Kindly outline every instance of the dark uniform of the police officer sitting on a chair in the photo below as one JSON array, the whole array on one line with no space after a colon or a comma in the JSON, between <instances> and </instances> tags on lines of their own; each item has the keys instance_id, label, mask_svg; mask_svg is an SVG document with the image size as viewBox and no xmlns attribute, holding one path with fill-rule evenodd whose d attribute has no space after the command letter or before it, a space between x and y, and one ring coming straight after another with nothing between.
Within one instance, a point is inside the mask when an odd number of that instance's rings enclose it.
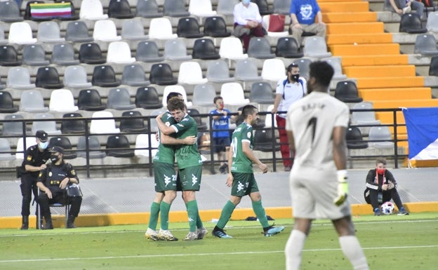
<instances>
[{"instance_id":1,"label":"dark uniform of the police officer sitting on a chair","mask_svg":"<svg viewBox=\"0 0 438 270\"><path fill-rule=\"evenodd\" d=\"M79 182L79 178L73 169L72 164L62 162L59 166L55 164L48 164L45 170L41 170L36 182L42 182L44 186L51 190L52 198L48 198L44 191L38 196L38 203L41 208L41 215L46 222L51 220L51 212L48 207L51 203L68 203L71 204L69 211L69 220L74 220L77 217L79 210L81 210L82 197L67 197L65 189L60 188L60 182L66 177L74 178ZM68 186L68 185L67 185ZM73 217L73 218L72 218Z\"/></svg>"}]
</instances>

